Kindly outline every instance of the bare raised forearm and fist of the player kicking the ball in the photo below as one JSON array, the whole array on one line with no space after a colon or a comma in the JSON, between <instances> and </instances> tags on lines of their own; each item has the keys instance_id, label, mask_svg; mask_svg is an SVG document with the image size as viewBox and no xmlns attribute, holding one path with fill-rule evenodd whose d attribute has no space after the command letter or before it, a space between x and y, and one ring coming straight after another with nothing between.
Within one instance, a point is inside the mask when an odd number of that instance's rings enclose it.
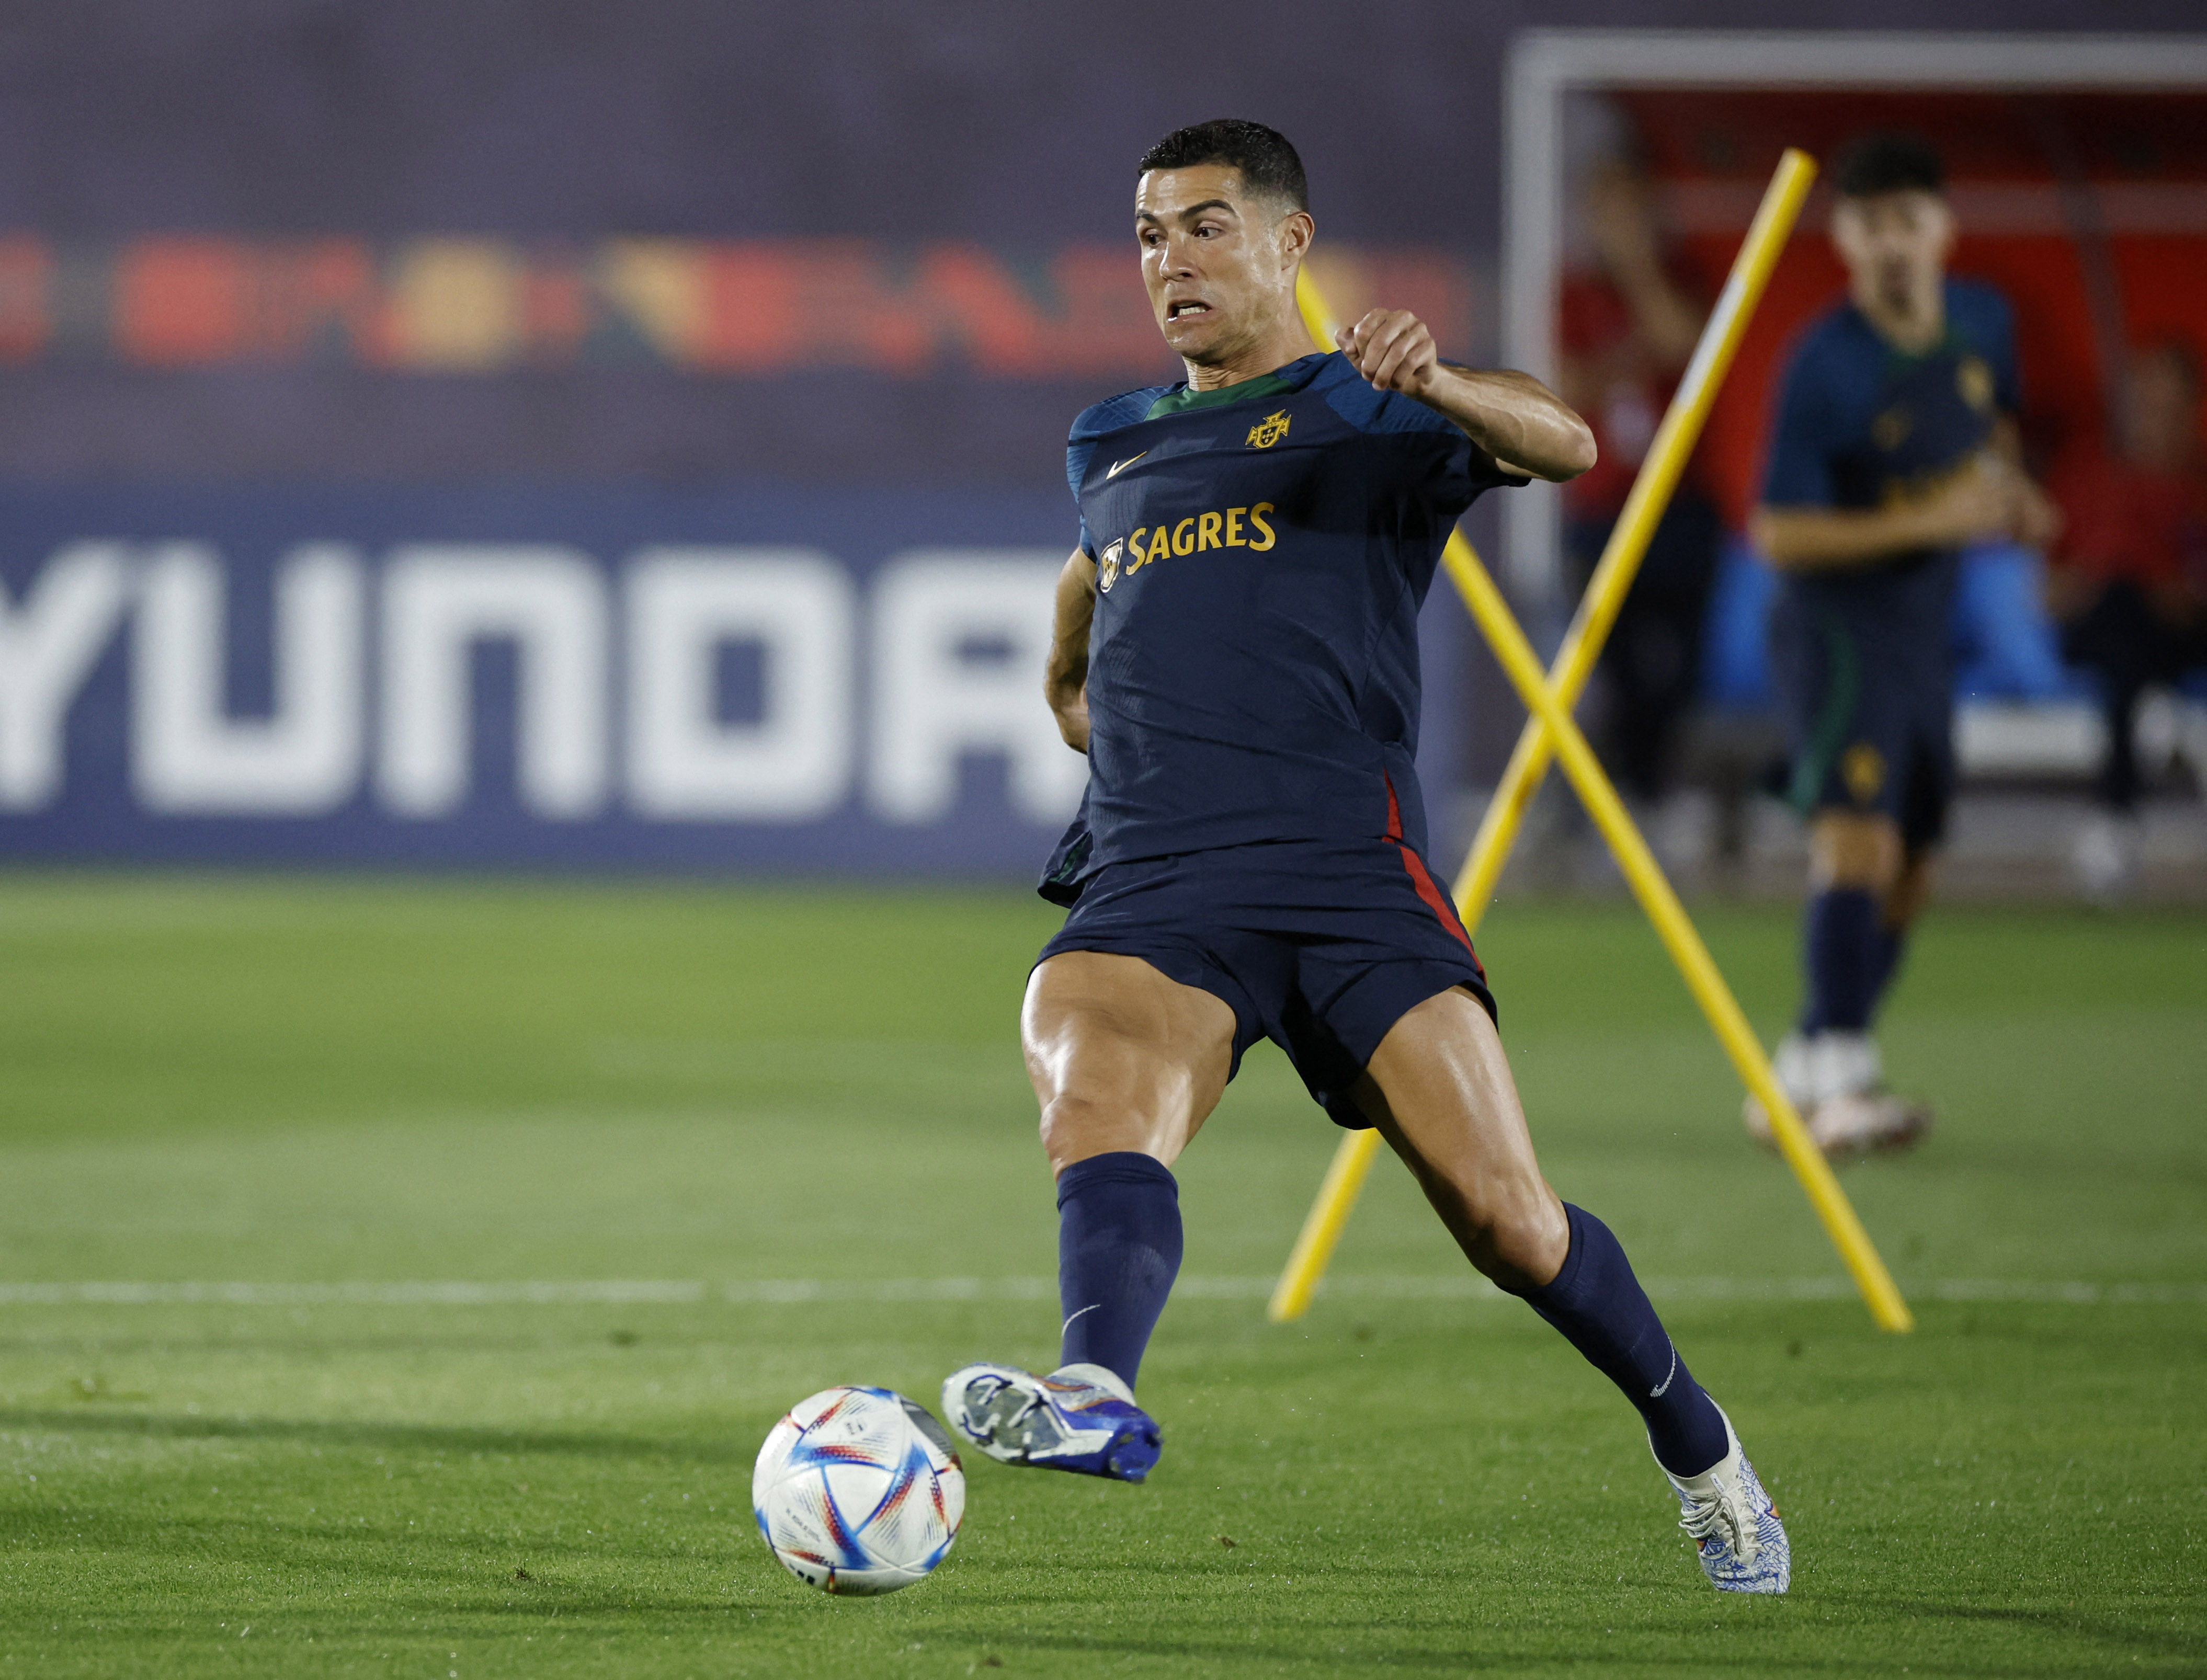
<instances>
[{"instance_id":1,"label":"bare raised forearm and fist of the player kicking the ball","mask_svg":"<svg viewBox=\"0 0 2207 1680\"><path fill-rule=\"evenodd\" d=\"M1448 415L1505 472L1560 483L1593 466L1593 430L1563 397L1529 373L1443 362L1408 309L1371 309L1342 329L1342 353L1375 389Z\"/></svg>"}]
</instances>

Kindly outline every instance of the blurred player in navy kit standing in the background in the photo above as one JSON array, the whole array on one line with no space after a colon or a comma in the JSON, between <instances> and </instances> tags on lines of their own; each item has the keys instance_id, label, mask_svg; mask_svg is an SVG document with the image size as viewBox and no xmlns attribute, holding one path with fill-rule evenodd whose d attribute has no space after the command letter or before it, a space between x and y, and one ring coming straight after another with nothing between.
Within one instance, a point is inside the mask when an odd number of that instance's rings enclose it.
<instances>
[{"instance_id":1,"label":"blurred player in navy kit standing in the background","mask_svg":"<svg viewBox=\"0 0 2207 1680\"><path fill-rule=\"evenodd\" d=\"M1801 338L1779 397L1757 547L1783 574L1770 662L1810 821L1808 998L1777 1075L1827 1155L1905 1148L1929 1108L1885 1093L1869 1035L1953 799L1949 607L1960 550L2039 543L2017 466L2015 327L1947 276L1940 157L1872 135L1834 170L1847 302ZM1752 1097L1748 1130L1768 1139Z\"/></svg>"}]
</instances>

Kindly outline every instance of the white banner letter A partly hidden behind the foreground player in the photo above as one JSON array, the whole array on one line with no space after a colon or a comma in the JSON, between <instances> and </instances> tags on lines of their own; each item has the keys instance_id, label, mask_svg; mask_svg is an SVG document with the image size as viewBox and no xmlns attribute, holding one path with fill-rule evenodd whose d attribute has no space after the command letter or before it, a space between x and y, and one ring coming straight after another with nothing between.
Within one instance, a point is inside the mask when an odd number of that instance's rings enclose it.
<instances>
[{"instance_id":1,"label":"white banner letter A partly hidden behind the foreground player","mask_svg":"<svg viewBox=\"0 0 2207 1680\"><path fill-rule=\"evenodd\" d=\"M874 751L867 797L896 823L934 823L958 804L969 753L1011 762L1011 799L1064 821L1088 762L1057 737L1042 662L1064 556L1053 550L914 550L874 587ZM975 645L1002 647L980 658Z\"/></svg>"}]
</instances>

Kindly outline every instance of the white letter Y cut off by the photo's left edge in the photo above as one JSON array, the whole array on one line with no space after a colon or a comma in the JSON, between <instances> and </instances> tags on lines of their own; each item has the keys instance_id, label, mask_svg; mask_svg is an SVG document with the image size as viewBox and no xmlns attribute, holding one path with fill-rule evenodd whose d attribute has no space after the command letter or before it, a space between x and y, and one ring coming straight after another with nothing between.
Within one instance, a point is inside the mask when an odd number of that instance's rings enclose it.
<instances>
[{"instance_id":1,"label":"white letter Y cut off by the photo's left edge","mask_svg":"<svg viewBox=\"0 0 2207 1680\"><path fill-rule=\"evenodd\" d=\"M0 810L40 810L62 793L68 704L128 598L121 543L71 543L46 561L22 607L0 587Z\"/></svg>"}]
</instances>

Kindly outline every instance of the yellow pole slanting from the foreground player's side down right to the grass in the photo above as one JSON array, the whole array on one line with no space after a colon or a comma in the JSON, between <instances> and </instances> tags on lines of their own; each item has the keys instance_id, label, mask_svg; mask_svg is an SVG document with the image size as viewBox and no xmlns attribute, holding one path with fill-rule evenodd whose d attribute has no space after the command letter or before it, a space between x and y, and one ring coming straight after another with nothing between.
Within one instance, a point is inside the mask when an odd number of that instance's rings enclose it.
<instances>
[{"instance_id":1,"label":"yellow pole slanting from the foreground player's side down right to the grass","mask_svg":"<svg viewBox=\"0 0 2207 1680\"><path fill-rule=\"evenodd\" d=\"M1593 748L1587 746L1578 722L1549 691L1540 671L1540 658L1532 651L1532 642L1525 640L1525 631L1518 629L1501 589L1494 587L1494 578L1488 576L1479 556L1472 554L1470 543L1450 541L1443 563L1457 589L1463 592L1465 605L1470 605L1472 616L1485 631L1488 645L1494 649L1494 658L1501 660L1518 698L1547 729L1549 742L1558 757L1563 757L1565 775L1578 790L1596 828L1602 830L1602 839L1609 841L1609 850L1616 852L1618 865L1633 887L1633 896L1640 899L1640 907L1655 923L1655 932L1671 951L1671 960L1677 963L1677 971L1686 978L1693 1000L1708 1016L1708 1024L1717 1031L1726 1055L1732 1057L1741 1082L1770 1113L1770 1130L1777 1135L1779 1150L1785 1155L1785 1163L1794 1170L1794 1177L1801 1179L1801 1188L1808 1192L1810 1205L1823 1221L1834 1247L1838 1247L1838 1256L1847 1263L1847 1272L1854 1274L1863 1300L1869 1302L1872 1318L1878 1320L1880 1329L1913 1329L1916 1318L1900 1298L1900 1289L1894 1287L1894 1278L1885 1269L1885 1261L1878 1258L1878 1250L1869 1243L1863 1223L1854 1216L1847 1192L1838 1188L1830 1161L1823 1159L1823 1150L1810 1139L1808 1126L1801 1124L1801 1115L1794 1113L1785 1088L1770 1071L1770 1057L1763 1055L1761 1040L1748 1027L1748 1018L1739 1011L1730 987L1724 985L1724 976L1708 956L1708 947L1695 932L1677 894L1671 892L1671 883L1664 881L1655 854L1649 852L1646 841L1640 839L1640 830L1633 828L1633 819L1624 812L1624 801L1609 786L1609 777L1593 757Z\"/></svg>"}]
</instances>

